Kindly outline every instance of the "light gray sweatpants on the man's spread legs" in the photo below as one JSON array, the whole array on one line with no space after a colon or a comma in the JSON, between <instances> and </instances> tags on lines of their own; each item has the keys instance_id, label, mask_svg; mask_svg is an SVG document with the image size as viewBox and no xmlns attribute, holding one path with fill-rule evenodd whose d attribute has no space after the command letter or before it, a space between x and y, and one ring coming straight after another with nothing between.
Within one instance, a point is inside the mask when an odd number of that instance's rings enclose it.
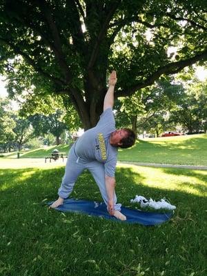
<instances>
[{"instance_id":1,"label":"light gray sweatpants on the man's spread legs","mask_svg":"<svg viewBox=\"0 0 207 276\"><path fill-rule=\"evenodd\" d=\"M84 169L88 169L91 172L93 178L99 186L101 196L107 205L108 195L106 192L104 165L96 160L86 161L78 157L75 153L75 144L72 145L72 148L70 148L69 151L65 175L63 176L61 187L58 190L59 197L63 199L69 197L70 193L72 193L73 187L75 186L77 177L79 177ZM114 195L114 204L115 210L121 210L121 204L117 204L116 194Z\"/></svg>"}]
</instances>

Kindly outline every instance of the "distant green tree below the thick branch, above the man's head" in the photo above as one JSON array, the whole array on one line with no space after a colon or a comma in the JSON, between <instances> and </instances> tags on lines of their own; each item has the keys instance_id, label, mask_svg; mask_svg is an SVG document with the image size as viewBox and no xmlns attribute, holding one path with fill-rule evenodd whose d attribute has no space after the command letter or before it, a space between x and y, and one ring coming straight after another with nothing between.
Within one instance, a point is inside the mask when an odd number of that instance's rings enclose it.
<instances>
[{"instance_id":1,"label":"distant green tree below the thick branch, above the man's head","mask_svg":"<svg viewBox=\"0 0 207 276\"><path fill-rule=\"evenodd\" d=\"M115 114L119 126L127 124L136 134L137 130L150 130L159 135L159 132L169 127L166 116L182 90L184 88L180 84L173 83L172 78L166 77L161 78L153 86L136 92L132 97L122 98L119 106L115 105L118 109Z\"/></svg>"}]
</instances>

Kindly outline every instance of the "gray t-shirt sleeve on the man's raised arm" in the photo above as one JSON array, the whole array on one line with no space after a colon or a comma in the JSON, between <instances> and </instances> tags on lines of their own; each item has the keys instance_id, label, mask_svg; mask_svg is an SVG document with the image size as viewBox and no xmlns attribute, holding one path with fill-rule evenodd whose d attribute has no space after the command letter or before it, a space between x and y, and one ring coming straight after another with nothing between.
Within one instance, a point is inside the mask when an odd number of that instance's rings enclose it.
<instances>
[{"instance_id":1,"label":"gray t-shirt sleeve on the man's raised arm","mask_svg":"<svg viewBox=\"0 0 207 276\"><path fill-rule=\"evenodd\" d=\"M97 123L98 128L102 128L105 131L114 131L115 129L115 117L112 112L112 108L107 108L100 116Z\"/></svg>"}]
</instances>

